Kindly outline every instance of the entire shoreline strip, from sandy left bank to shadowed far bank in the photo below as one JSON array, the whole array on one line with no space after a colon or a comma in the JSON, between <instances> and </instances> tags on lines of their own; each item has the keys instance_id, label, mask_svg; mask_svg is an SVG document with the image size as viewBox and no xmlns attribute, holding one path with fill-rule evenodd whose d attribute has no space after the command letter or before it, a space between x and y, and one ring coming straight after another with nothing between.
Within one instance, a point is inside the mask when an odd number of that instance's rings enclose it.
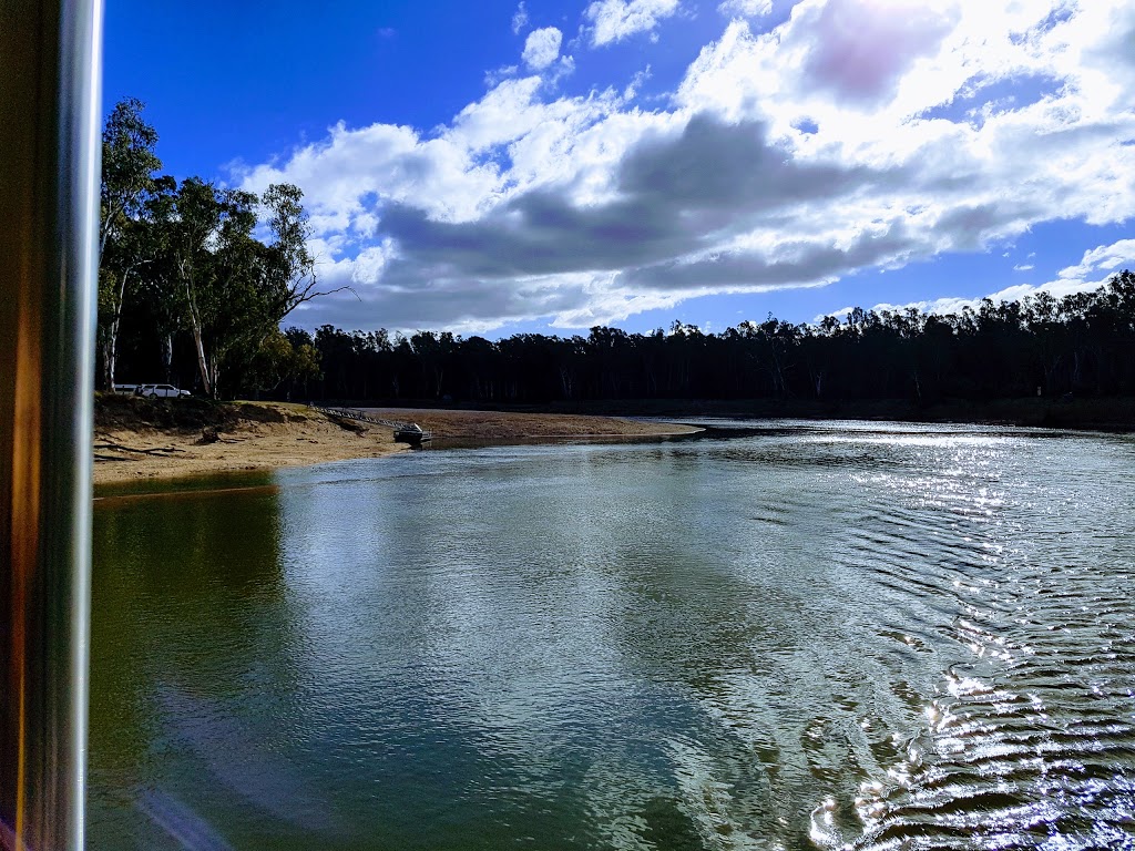
<instances>
[{"instance_id":1,"label":"entire shoreline strip, from sandy left bank to shadowed far bank","mask_svg":"<svg viewBox=\"0 0 1135 851\"><path fill-rule=\"evenodd\" d=\"M565 440L634 440L692 435L683 419L807 419L1135 431L1135 399L998 399L916 406L878 401L715 402L630 399L538 408L464 410L352 405L369 416L418 422L442 446ZM659 421L629 418L657 418ZM175 482L409 452L393 429L281 402L215 403L98 395L94 485Z\"/></svg>"}]
</instances>

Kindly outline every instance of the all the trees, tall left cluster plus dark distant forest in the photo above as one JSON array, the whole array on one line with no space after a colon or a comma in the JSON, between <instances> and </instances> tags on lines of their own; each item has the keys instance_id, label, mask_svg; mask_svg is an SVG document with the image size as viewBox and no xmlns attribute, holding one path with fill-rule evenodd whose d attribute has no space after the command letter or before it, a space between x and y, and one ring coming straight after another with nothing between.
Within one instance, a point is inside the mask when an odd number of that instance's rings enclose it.
<instances>
[{"instance_id":1,"label":"all the trees, tall left cluster plus dark distant forest","mask_svg":"<svg viewBox=\"0 0 1135 851\"><path fill-rule=\"evenodd\" d=\"M992 399L1135 395L1135 273L1057 300L936 315L856 309L705 334L506 339L280 330L318 288L302 193L159 175L138 101L103 134L100 386L173 381L215 397L531 404L595 399ZM263 238L261 238L263 237Z\"/></svg>"}]
</instances>

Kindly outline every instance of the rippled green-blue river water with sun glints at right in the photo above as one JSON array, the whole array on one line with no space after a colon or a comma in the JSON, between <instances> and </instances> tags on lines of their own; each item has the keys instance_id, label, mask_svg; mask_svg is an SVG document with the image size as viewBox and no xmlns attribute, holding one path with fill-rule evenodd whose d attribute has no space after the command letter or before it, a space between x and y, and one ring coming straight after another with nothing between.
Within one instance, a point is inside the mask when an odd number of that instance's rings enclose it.
<instances>
[{"instance_id":1,"label":"rippled green-blue river water with sun glints at right","mask_svg":"<svg viewBox=\"0 0 1135 851\"><path fill-rule=\"evenodd\" d=\"M95 512L93 849L1135 846L1135 441L782 424Z\"/></svg>"}]
</instances>

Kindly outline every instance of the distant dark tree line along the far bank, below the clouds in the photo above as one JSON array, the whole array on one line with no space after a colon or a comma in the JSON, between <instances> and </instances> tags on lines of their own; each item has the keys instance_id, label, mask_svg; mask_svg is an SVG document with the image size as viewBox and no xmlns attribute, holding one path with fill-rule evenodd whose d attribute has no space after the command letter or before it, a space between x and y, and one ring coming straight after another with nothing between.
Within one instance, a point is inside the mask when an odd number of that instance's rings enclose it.
<instances>
[{"instance_id":1,"label":"distant dark tree line along the far bank, below the clouds","mask_svg":"<svg viewBox=\"0 0 1135 851\"><path fill-rule=\"evenodd\" d=\"M1135 395L1135 273L1092 293L982 301L936 315L856 307L842 321L773 317L720 334L674 322L669 332L596 327L587 337L449 332L314 335L318 378L305 397L540 404L596 399L992 399Z\"/></svg>"}]
</instances>

